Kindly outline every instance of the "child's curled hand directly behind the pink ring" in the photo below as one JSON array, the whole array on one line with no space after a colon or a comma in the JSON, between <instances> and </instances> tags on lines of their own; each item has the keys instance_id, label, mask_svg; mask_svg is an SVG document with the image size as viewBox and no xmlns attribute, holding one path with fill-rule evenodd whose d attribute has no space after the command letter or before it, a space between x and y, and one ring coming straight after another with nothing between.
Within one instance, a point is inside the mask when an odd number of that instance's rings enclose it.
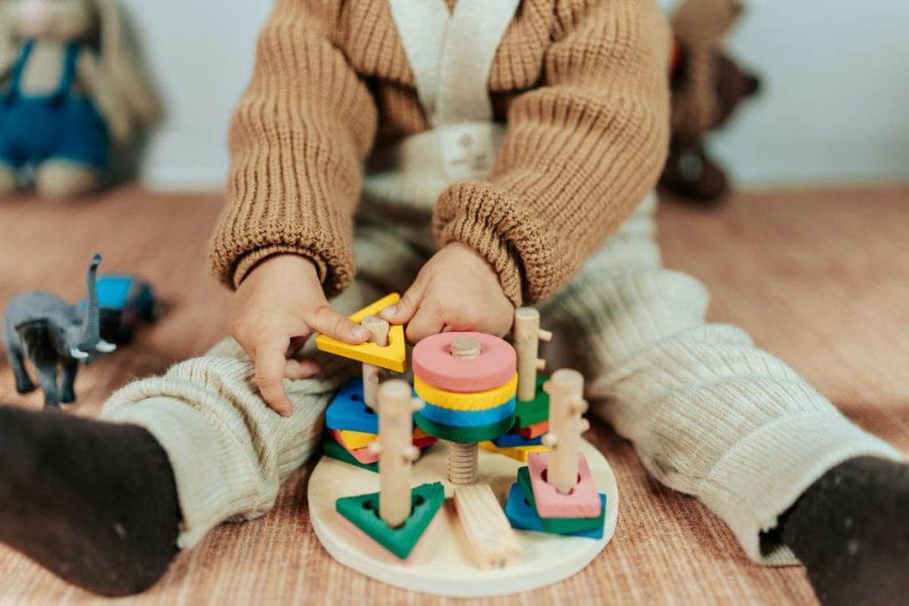
<instances>
[{"instance_id":1,"label":"child's curled hand directly behind the pink ring","mask_svg":"<svg viewBox=\"0 0 909 606\"><path fill-rule=\"evenodd\" d=\"M401 301L380 315L407 324L407 340L435 333L476 331L503 336L514 320L514 305L484 257L463 243L450 243L420 270Z\"/></svg>"}]
</instances>

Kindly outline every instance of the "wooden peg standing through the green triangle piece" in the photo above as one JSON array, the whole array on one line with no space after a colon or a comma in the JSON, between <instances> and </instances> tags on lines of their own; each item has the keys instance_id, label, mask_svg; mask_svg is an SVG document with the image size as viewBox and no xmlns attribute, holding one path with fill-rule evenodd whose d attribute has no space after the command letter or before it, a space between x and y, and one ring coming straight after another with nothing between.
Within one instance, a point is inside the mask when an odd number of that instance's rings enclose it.
<instances>
[{"instance_id":1,"label":"wooden peg standing through the green triangle piece","mask_svg":"<svg viewBox=\"0 0 909 606\"><path fill-rule=\"evenodd\" d=\"M399 379L379 386L379 517L400 527L411 512L411 466L415 461L414 402L410 385ZM419 456L419 452L416 453Z\"/></svg>"}]
</instances>

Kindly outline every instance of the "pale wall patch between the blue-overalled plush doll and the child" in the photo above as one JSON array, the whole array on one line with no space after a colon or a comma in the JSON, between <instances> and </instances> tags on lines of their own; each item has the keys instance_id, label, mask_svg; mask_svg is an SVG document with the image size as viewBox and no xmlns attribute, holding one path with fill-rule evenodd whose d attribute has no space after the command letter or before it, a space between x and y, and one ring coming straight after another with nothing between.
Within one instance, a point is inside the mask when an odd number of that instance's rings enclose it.
<instances>
[{"instance_id":1,"label":"pale wall patch between the blue-overalled plush doll and the child","mask_svg":"<svg viewBox=\"0 0 909 606\"><path fill-rule=\"evenodd\" d=\"M162 189L222 187L227 124L271 0L121 1L167 113L148 150L145 182Z\"/></svg>"}]
</instances>

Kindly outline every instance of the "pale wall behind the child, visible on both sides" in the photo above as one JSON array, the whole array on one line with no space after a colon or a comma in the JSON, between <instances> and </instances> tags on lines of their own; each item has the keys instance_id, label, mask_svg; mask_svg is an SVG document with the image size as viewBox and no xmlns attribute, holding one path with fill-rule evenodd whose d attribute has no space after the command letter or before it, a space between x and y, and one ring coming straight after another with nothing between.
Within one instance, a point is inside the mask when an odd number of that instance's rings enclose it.
<instances>
[{"instance_id":1,"label":"pale wall behind the child, visible on both sides","mask_svg":"<svg viewBox=\"0 0 909 606\"><path fill-rule=\"evenodd\" d=\"M123 0L169 117L145 180L217 187L226 124L270 0ZM674 0L660 0L672 5ZM764 76L760 100L714 137L743 184L909 178L909 2L750 0L734 55Z\"/></svg>"}]
</instances>

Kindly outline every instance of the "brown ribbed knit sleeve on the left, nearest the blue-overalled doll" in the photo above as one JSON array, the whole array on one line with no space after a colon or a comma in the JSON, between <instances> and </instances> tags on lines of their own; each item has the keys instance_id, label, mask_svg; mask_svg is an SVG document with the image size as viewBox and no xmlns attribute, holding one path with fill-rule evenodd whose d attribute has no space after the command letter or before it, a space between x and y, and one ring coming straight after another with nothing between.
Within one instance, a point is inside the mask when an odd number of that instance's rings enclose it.
<instances>
[{"instance_id":1,"label":"brown ribbed knit sleeve on the left, nearest the blue-overalled doll","mask_svg":"<svg viewBox=\"0 0 909 606\"><path fill-rule=\"evenodd\" d=\"M354 275L353 214L377 111L335 45L340 0L277 0L230 130L210 259L229 287L275 253L313 259L328 295Z\"/></svg>"}]
</instances>

